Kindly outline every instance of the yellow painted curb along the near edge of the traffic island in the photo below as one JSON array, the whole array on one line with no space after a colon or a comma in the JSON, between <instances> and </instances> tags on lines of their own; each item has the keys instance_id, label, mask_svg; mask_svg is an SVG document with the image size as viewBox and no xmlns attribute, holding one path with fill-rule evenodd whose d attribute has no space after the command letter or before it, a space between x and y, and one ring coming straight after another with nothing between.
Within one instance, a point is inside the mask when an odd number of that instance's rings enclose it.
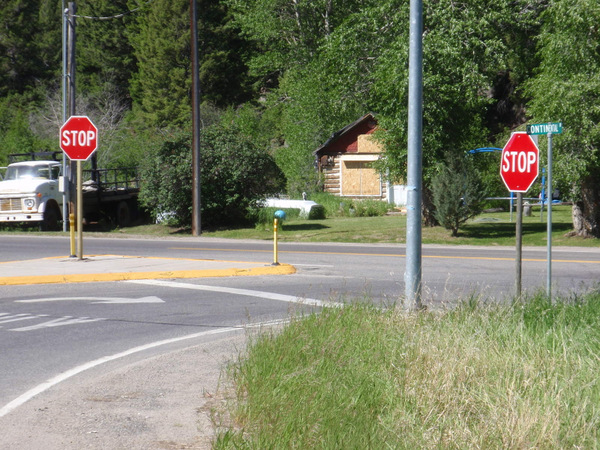
<instances>
[{"instance_id":1,"label":"yellow painted curb along the near edge of the traffic island","mask_svg":"<svg viewBox=\"0 0 600 450\"><path fill-rule=\"evenodd\" d=\"M85 273L72 275L39 275L0 277L0 286L57 283L99 283L104 281L151 280L160 278L208 278L258 275L291 275L296 268L289 264L263 266L250 269L174 270L158 272Z\"/></svg>"}]
</instances>

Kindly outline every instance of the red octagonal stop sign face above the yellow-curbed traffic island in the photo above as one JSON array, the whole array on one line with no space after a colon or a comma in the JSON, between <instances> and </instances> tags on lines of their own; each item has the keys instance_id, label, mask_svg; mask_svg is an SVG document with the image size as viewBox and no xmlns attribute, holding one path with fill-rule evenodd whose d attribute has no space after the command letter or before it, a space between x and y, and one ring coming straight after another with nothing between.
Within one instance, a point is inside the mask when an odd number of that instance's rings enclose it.
<instances>
[{"instance_id":1,"label":"red octagonal stop sign face above the yellow-curbed traffic island","mask_svg":"<svg viewBox=\"0 0 600 450\"><path fill-rule=\"evenodd\" d=\"M87 116L71 116L60 128L60 148L72 161L86 161L98 147L98 128Z\"/></svg>"}]
</instances>

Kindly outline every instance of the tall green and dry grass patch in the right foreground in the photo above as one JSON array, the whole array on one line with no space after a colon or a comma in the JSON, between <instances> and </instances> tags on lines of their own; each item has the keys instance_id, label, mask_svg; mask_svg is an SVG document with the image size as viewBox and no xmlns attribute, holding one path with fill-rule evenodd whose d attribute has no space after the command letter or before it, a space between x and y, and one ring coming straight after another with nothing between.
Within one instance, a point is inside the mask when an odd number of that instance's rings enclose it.
<instances>
[{"instance_id":1,"label":"tall green and dry grass patch in the right foreground","mask_svg":"<svg viewBox=\"0 0 600 450\"><path fill-rule=\"evenodd\" d=\"M599 322L599 294L299 318L231 367L215 448L597 448Z\"/></svg>"}]
</instances>

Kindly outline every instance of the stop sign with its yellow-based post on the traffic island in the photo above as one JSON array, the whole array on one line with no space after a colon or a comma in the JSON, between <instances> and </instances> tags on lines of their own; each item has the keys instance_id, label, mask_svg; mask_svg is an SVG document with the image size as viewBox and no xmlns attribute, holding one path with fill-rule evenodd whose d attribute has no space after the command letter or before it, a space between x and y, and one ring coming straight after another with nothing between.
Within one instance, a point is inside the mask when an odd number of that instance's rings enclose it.
<instances>
[{"instance_id":1,"label":"stop sign with its yellow-based post on the traffic island","mask_svg":"<svg viewBox=\"0 0 600 450\"><path fill-rule=\"evenodd\" d=\"M81 161L87 161L98 148L98 128L87 116L71 116L60 128L60 148L71 161L77 161L77 257L83 259L83 189ZM71 222L71 256L75 256L75 231L73 210Z\"/></svg>"}]
</instances>

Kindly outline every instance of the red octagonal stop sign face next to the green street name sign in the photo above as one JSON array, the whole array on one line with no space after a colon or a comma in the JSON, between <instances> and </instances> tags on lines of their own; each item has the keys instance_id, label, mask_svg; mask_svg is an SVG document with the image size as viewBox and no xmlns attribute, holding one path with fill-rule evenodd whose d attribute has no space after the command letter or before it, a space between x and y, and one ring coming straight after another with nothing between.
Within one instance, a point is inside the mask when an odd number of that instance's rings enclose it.
<instances>
[{"instance_id":1,"label":"red octagonal stop sign face next to the green street name sign","mask_svg":"<svg viewBox=\"0 0 600 450\"><path fill-rule=\"evenodd\" d=\"M527 192L540 170L540 151L527 133L513 133L500 161L500 176L511 192Z\"/></svg>"}]
</instances>

